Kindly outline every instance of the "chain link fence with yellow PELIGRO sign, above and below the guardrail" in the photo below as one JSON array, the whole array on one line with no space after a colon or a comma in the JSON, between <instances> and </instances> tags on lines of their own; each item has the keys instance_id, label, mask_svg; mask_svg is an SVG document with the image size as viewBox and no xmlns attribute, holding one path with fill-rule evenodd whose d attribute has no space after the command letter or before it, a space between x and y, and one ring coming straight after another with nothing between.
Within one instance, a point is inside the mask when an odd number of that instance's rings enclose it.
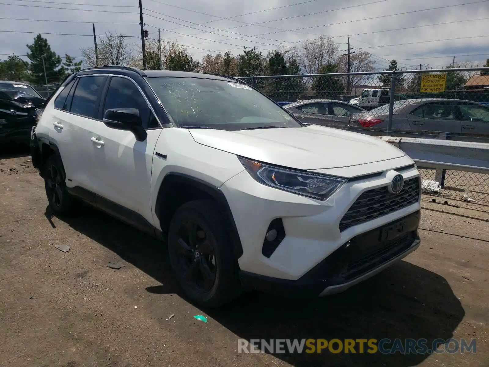
<instances>
[{"instance_id":1,"label":"chain link fence with yellow PELIGRO sign, above and below the guardrail","mask_svg":"<svg viewBox=\"0 0 489 367\"><path fill-rule=\"evenodd\" d=\"M489 68L240 79L306 123L372 136L489 143ZM426 194L489 205L487 174L420 171Z\"/></svg>"}]
</instances>

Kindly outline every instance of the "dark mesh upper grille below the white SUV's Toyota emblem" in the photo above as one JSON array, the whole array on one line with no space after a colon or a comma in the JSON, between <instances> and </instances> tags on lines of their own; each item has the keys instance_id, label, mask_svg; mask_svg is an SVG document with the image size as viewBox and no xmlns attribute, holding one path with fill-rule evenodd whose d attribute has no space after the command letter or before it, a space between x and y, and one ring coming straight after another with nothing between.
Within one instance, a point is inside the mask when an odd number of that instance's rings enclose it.
<instances>
[{"instance_id":1,"label":"dark mesh upper grille below the white SUV's Toyota emblem","mask_svg":"<svg viewBox=\"0 0 489 367\"><path fill-rule=\"evenodd\" d=\"M374 188L361 194L339 222L340 232L360 223L371 221L403 207L417 203L420 196L418 177L404 182L399 194L391 194L387 186Z\"/></svg>"}]
</instances>

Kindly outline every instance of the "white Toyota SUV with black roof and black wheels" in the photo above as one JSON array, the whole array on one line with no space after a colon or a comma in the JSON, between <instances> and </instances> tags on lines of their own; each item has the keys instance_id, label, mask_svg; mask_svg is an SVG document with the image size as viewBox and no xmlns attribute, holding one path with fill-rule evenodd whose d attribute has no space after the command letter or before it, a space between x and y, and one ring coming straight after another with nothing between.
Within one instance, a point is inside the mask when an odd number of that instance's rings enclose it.
<instances>
[{"instance_id":1,"label":"white Toyota SUV with black roof and black wheels","mask_svg":"<svg viewBox=\"0 0 489 367\"><path fill-rule=\"evenodd\" d=\"M79 71L46 103L31 155L56 214L83 201L167 241L179 286L205 306L242 289L336 293L420 244L409 157L304 125L231 77Z\"/></svg>"}]
</instances>

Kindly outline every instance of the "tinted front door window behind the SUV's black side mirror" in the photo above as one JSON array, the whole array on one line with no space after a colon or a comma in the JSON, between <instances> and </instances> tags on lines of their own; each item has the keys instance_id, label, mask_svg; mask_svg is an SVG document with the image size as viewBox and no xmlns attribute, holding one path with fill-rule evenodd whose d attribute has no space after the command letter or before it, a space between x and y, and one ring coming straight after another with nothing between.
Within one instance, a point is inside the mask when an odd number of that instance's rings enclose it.
<instances>
[{"instance_id":1,"label":"tinted front door window behind the SUV's black side mirror","mask_svg":"<svg viewBox=\"0 0 489 367\"><path fill-rule=\"evenodd\" d=\"M135 108L145 129L159 127L156 117L148 107L146 100L134 83L126 78L112 77L111 84L105 98L105 111L113 108Z\"/></svg>"}]
</instances>

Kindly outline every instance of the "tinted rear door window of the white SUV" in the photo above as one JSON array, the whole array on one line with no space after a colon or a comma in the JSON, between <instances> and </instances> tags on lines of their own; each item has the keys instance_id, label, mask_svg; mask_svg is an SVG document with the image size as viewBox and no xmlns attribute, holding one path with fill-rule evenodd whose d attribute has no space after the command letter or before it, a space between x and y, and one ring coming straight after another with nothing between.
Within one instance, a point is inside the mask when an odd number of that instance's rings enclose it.
<instances>
[{"instance_id":1,"label":"tinted rear door window of the white SUV","mask_svg":"<svg viewBox=\"0 0 489 367\"><path fill-rule=\"evenodd\" d=\"M84 76L79 78L73 94L70 111L74 114L94 118L97 114L97 100L105 76Z\"/></svg>"}]
</instances>

